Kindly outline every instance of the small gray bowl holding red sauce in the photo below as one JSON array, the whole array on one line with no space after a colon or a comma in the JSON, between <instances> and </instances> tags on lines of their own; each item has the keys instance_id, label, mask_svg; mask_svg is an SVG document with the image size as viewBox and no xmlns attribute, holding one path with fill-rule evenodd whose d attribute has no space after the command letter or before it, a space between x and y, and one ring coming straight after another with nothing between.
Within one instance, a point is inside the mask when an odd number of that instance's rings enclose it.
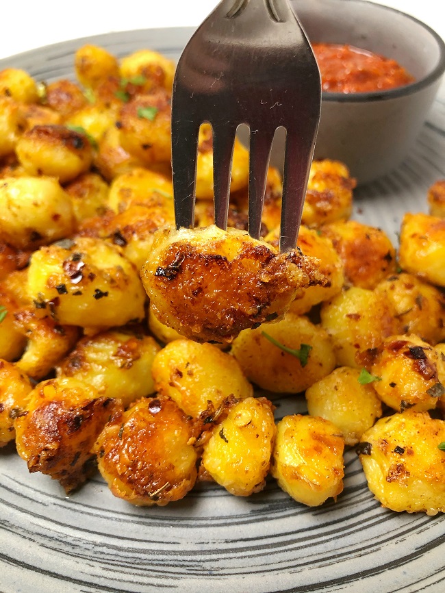
<instances>
[{"instance_id":1,"label":"small gray bowl holding red sauce","mask_svg":"<svg viewBox=\"0 0 445 593\"><path fill-rule=\"evenodd\" d=\"M292 0L309 40L350 44L392 58L416 78L392 90L322 93L315 157L338 159L358 184L400 164L414 144L445 71L445 44L416 18L365 0ZM272 149L280 166L284 134Z\"/></svg>"}]
</instances>

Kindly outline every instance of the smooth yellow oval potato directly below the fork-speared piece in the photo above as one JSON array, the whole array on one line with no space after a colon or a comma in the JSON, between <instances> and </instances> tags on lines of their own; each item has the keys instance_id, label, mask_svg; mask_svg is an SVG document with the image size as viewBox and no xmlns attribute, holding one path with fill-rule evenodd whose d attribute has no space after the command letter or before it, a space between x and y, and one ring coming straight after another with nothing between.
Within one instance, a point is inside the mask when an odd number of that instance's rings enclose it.
<instances>
[{"instance_id":1,"label":"smooth yellow oval potato directly below the fork-speared piece","mask_svg":"<svg viewBox=\"0 0 445 593\"><path fill-rule=\"evenodd\" d=\"M237 399L253 395L236 359L212 344L170 342L155 356L152 373L155 390L195 418L209 403L216 409L230 395Z\"/></svg>"}]
</instances>

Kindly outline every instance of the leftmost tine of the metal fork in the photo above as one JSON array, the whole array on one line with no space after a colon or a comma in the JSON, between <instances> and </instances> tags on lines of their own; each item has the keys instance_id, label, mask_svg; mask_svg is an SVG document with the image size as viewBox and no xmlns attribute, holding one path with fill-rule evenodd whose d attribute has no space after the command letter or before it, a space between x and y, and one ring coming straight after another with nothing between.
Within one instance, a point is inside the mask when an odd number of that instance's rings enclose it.
<instances>
[{"instance_id":1,"label":"leftmost tine of the metal fork","mask_svg":"<svg viewBox=\"0 0 445 593\"><path fill-rule=\"evenodd\" d=\"M172 162L173 194L175 196L176 228L194 226L194 188L196 185L196 157L199 125L175 116L172 106Z\"/></svg>"}]
</instances>

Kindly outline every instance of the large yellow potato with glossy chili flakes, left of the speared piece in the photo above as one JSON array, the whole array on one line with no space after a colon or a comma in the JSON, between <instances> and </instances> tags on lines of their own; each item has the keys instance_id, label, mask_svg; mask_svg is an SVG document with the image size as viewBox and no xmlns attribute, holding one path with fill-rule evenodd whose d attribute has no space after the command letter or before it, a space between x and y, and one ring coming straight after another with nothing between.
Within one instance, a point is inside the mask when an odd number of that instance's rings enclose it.
<instances>
[{"instance_id":1,"label":"large yellow potato with glossy chili flakes, left of the speared piece","mask_svg":"<svg viewBox=\"0 0 445 593\"><path fill-rule=\"evenodd\" d=\"M101 239L79 237L35 251L27 292L63 325L105 328L144 318L138 271L120 247Z\"/></svg>"}]
</instances>

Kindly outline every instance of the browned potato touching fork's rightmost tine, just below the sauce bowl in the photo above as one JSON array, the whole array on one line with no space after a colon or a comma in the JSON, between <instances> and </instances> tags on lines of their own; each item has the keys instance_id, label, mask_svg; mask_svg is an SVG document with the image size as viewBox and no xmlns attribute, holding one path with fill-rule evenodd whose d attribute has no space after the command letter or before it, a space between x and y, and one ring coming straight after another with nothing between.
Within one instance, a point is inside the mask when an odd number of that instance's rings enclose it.
<instances>
[{"instance_id":1,"label":"browned potato touching fork's rightmost tine, just below the sauce bowl","mask_svg":"<svg viewBox=\"0 0 445 593\"><path fill-rule=\"evenodd\" d=\"M318 227L333 220L347 220L351 216L355 185L343 163L328 159L313 161L303 205L303 224Z\"/></svg>"}]
</instances>

